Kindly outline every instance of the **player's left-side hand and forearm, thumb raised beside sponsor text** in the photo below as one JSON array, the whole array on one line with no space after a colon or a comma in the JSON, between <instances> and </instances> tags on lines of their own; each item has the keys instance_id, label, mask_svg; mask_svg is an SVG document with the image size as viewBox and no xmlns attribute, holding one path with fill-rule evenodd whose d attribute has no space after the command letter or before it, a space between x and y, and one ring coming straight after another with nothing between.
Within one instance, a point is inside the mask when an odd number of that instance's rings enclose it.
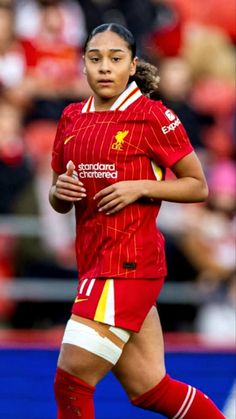
<instances>
[{"instance_id":1,"label":"player's left-side hand and forearm, thumb raised beside sponsor text","mask_svg":"<svg viewBox=\"0 0 236 419\"><path fill-rule=\"evenodd\" d=\"M61 175L53 171L52 186L49 191L49 202L55 211L65 214L71 210L74 202L86 196L84 185L78 179L72 161L67 171Z\"/></svg>"}]
</instances>

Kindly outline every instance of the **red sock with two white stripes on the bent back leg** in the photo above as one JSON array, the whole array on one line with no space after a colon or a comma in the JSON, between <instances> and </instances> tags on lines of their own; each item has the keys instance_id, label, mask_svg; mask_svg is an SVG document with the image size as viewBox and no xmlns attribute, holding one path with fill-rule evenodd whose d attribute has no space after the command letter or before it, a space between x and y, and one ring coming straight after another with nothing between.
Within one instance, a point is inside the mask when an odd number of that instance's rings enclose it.
<instances>
[{"instance_id":1,"label":"red sock with two white stripes on the bent back leg","mask_svg":"<svg viewBox=\"0 0 236 419\"><path fill-rule=\"evenodd\" d=\"M214 403L194 387L165 375L153 389L132 403L172 419L222 419Z\"/></svg>"}]
</instances>

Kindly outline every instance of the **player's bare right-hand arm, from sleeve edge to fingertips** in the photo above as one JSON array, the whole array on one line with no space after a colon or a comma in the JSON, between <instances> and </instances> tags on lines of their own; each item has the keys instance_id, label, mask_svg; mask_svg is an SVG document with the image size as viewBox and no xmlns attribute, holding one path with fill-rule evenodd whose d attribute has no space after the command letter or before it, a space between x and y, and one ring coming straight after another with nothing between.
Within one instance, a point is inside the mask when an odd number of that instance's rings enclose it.
<instances>
[{"instance_id":1,"label":"player's bare right-hand arm, from sleeve edge to fingertips","mask_svg":"<svg viewBox=\"0 0 236 419\"><path fill-rule=\"evenodd\" d=\"M130 180L117 182L95 195L98 210L113 214L140 198L170 202L201 202L208 187L201 163L194 152L180 159L171 170L173 180Z\"/></svg>"}]
</instances>

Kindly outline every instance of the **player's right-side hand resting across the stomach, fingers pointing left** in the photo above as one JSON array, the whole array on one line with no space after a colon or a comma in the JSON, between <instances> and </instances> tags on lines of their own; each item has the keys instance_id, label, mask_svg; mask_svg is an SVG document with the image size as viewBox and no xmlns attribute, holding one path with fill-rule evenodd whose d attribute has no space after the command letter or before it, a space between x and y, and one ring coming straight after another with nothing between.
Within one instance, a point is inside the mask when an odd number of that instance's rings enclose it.
<instances>
[{"instance_id":1,"label":"player's right-side hand resting across the stomach, fingers pointing left","mask_svg":"<svg viewBox=\"0 0 236 419\"><path fill-rule=\"evenodd\" d=\"M141 180L126 180L102 189L94 196L94 199L98 200L98 211L110 215L141 198L141 191Z\"/></svg>"}]
</instances>

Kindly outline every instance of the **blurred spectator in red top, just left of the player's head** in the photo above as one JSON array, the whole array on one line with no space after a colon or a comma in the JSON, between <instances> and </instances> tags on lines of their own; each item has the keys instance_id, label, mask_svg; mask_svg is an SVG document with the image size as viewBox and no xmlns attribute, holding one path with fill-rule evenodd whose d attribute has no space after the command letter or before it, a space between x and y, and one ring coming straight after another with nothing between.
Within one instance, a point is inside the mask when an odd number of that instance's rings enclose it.
<instances>
[{"instance_id":1,"label":"blurred spectator in red top, just left of the player's head","mask_svg":"<svg viewBox=\"0 0 236 419\"><path fill-rule=\"evenodd\" d=\"M89 95L90 89L82 73L79 45L65 40L61 2L41 3L38 10L40 26L30 38L35 66L33 107L28 119L58 120L68 102L83 99Z\"/></svg>"}]
</instances>

